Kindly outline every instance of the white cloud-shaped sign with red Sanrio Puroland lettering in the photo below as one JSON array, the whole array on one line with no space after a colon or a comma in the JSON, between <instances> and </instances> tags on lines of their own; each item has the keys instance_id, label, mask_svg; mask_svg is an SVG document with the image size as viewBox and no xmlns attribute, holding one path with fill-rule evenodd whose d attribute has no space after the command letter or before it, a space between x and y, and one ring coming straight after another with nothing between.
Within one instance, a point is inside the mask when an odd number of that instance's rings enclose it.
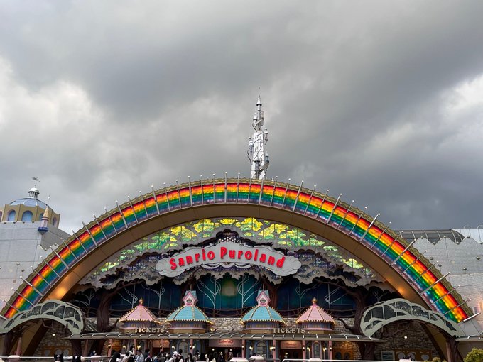
<instances>
[{"instance_id":1,"label":"white cloud-shaped sign with red Sanrio Puroland lettering","mask_svg":"<svg viewBox=\"0 0 483 362\"><path fill-rule=\"evenodd\" d=\"M269 246L248 246L231 241L216 243L206 248L187 248L185 251L163 258L156 264L161 275L175 277L190 268L247 268L258 265L271 270L277 275L290 275L300 268L300 261L293 256L286 256Z\"/></svg>"}]
</instances>

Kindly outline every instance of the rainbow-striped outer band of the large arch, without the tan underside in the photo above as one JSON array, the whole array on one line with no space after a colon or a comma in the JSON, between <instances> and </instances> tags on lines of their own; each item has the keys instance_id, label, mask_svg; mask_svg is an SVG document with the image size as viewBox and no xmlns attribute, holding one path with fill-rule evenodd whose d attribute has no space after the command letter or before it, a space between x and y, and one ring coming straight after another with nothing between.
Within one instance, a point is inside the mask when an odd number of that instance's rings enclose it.
<instances>
[{"instance_id":1,"label":"rainbow-striped outer band of the large arch, without the tan underside","mask_svg":"<svg viewBox=\"0 0 483 362\"><path fill-rule=\"evenodd\" d=\"M70 237L31 273L2 310L6 318L41 302L70 268L121 231L156 216L210 204L259 204L285 209L338 229L370 249L403 276L420 297L454 322L471 314L460 295L415 248L388 226L340 199L289 184L261 180L218 179L188 182L144 194L95 218Z\"/></svg>"}]
</instances>

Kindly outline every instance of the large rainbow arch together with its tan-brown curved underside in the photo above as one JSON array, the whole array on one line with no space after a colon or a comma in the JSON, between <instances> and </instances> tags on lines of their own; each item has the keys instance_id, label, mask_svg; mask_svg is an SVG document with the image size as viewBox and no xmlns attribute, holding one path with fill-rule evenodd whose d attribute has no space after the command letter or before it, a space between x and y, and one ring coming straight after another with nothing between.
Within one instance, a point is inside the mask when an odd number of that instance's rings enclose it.
<instances>
[{"instance_id":1,"label":"large rainbow arch together with its tan-brown curved underside","mask_svg":"<svg viewBox=\"0 0 483 362\"><path fill-rule=\"evenodd\" d=\"M354 253L406 299L455 322L471 314L439 271L377 216L302 185L227 178L153 190L94 217L34 270L2 314L11 318L43 300L64 297L103 260L154 231L216 216L253 216L300 226Z\"/></svg>"}]
</instances>

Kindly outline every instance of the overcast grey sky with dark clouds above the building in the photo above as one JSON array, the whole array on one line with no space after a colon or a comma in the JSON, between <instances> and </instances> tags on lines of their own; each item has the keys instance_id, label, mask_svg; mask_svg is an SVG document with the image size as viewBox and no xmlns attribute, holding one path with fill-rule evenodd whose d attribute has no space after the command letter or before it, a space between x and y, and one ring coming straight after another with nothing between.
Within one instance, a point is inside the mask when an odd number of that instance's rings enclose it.
<instances>
[{"instance_id":1,"label":"overcast grey sky with dark clouds above the building","mask_svg":"<svg viewBox=\"0 0 483 362\"><path fill-rule=\"evenodd\" d=\"M0 203L69 231L188 175L330 189L394 229L483 224L483 1L0 1ZM259 90L260 88L260 90Z\"/></svg>"}]
</instances>

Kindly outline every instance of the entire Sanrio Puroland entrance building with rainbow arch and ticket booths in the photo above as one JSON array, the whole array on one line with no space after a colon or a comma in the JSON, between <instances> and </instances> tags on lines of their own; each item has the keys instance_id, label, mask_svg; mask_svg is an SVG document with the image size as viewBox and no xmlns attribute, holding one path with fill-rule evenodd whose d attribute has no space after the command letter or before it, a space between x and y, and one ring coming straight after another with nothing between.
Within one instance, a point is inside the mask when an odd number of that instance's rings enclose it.
<instances>
[{"instance_id":1,"label":"entire Sanrio Puroland entrance building with rainbow arch and ticket booths","mask_svg":"<svg viewBox=\"0 0 483 362\"><path fill-rule=\"evenodd\" d=\"M20 208L9 221L19 205L6 205L1 247L21 245L29 227L36 248L1 262L12 270L2 283L14 288L1 311L3 354L132 346L458 361L481 346L479 229L393 231L340 197L259 175L177 182L72 236L46 204L31 221L18 220ZM136 308L150 319L125 321Z\"/></svg>"}]
</instances>

